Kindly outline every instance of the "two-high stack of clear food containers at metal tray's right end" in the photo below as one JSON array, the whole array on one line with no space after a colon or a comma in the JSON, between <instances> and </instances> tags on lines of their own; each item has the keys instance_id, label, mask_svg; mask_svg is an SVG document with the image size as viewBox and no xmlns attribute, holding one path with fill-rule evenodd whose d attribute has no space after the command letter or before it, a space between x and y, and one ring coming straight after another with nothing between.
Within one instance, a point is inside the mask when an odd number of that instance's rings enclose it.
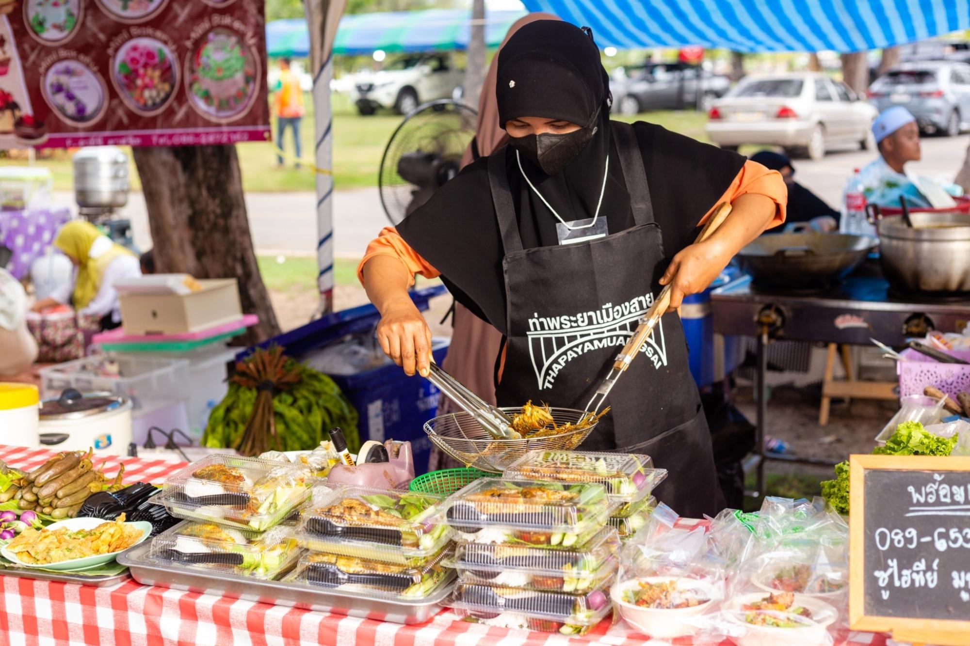
<instances>
[{"instance_id":1,"label":"two-high stack of clear food containers at metal tray's right end","mask_svg":"<svg viewBox=\"0 0 970 646\"><path fill-rule=\"evenodd\" d=\"M286 581L361 598L436 596L454 580L444 565L453 545L442 501L435 494L371 487L316 490L297 529L308 551Z\"/></svg>"}]
</instances>

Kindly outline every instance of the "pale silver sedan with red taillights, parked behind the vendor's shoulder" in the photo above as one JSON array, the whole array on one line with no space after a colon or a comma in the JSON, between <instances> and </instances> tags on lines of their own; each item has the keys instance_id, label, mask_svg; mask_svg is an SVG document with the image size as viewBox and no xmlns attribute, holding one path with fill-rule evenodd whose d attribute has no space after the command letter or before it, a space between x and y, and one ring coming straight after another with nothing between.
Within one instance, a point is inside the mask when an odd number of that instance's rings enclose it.
<instances>
[{"instance_id":1,"label":"pale silver sedan with red taillights, parked behind the vendor's shoulder","mask_svg":"<svg viewBox=\"0 0 970 646\"><path fill-rule=\"evenodd\" d=\"M845 83L812 72L748 77L708 113L707 137L723 148L780 145L824 157L836 145L874 149L878 112Z\"/></svg>"}]
</instances>

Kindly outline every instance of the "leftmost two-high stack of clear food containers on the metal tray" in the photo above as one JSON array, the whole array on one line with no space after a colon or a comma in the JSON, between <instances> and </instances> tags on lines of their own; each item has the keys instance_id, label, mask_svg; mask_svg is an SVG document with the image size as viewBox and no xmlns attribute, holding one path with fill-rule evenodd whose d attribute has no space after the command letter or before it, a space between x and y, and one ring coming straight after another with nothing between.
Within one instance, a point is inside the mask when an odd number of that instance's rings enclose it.
<instances>
[{"instance_id":1,"label":"leftmost two-high stack of clear food containers on the metal tray","mask_svg":"<svg viewBox=\"0 0 970 646\"><path fill-rule=\"evenodd\" d=\"M211 455L169 476L151 499L187 519L151 542L160 564L207 570L213 576L273 580L303 550L287 518L320 482L307 469Z\"/></svg>"}]
</instances>

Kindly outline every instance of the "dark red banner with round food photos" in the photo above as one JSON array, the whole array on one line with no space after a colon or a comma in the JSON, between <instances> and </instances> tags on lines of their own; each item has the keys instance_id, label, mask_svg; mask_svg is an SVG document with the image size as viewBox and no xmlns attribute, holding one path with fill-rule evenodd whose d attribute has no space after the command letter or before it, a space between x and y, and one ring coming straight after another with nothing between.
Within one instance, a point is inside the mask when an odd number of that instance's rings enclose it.
<instances>
[{"instance_id":1,"label":"dark red banner with round food photos","mask_svg":"<svg viewBox=\"0 0 970 646\"><path fill-rule=\"evenodd\" d=\"M0 0L0 148L267 141L263 0Z\"/></svg>"}]
</instances>

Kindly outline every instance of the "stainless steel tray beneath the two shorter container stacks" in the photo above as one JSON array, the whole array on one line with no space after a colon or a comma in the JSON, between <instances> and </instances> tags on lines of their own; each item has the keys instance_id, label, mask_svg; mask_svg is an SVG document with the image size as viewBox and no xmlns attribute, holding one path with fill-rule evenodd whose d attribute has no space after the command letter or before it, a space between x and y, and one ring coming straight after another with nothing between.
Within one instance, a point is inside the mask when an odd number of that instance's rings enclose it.
<instances>
[{"instance_id":1,"label":"stainless steel tray beneath the two shorter container stacks","mask_svg":"<svg viewBox=\"0 0 970 646\"><path fill-rule=\"evenodd\" d=\"M454 588L452 580L431 597L414 601L368 597L359 590L340 592L296 582L261 581L224 572L210 573L179 565L156 564L148 559L147 543L119 555L118 563L127 565L136 581L149 586L242 598L395 624L424 624L441 610L441 601Z\"/></svg>"}]
</instances>

